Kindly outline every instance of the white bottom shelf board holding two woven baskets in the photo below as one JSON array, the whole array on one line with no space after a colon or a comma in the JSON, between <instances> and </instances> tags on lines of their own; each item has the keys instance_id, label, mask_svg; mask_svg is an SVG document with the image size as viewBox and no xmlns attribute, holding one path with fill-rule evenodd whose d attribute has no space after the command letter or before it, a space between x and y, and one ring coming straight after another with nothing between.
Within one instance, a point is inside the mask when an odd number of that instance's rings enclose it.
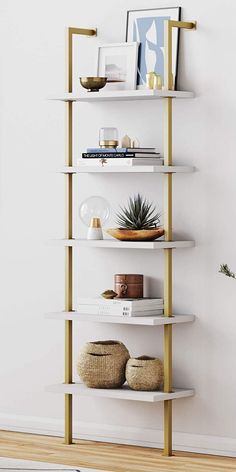
<instances>
[{"instance_id":1,"label":"white bottom shelf board holding two woven baskets","mask_svg":"<svg viewBox=\"0 0 236 472\"><path fill-rule=\"evenodd\" d=\"M46 387L46 391L51 393L69 393L80 396L114 398L116 400L134 400L151 403L161 402L164 400L175 400L194 395L193 389L173 389L172 393L164 393L162 391L138 392L131 390L127 385L124 385L119 389L98 389L88 388L82 383L49 385Z\"/></svg>"}]
</instances>

